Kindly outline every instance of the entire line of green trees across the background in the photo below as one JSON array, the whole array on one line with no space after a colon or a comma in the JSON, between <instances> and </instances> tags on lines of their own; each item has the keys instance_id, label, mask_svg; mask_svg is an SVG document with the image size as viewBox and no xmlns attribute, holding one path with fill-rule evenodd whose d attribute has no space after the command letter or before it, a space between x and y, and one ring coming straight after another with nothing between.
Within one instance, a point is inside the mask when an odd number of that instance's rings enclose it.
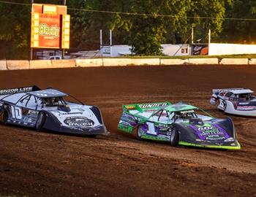
<instances>
[{"instance_id":1,"label":"entire line of green trees across the background","mask_svg":"<svg viewBox=\"0 0 256 197\"><path fill-rule=\"evenodd\" d=\"M0 58L28 58L31 7L29 0L21 2L0 3ZM138 55L161 55L161 44L191 42L192 28L201 43L208 42L209 29L212 42L256 42L256 20L241 20L256 19L254 0L67 0L67 7L70 50L99 49L99 29L106 45L111 29L113 44L131 45Z\"/></svg>"}]
</instances>

